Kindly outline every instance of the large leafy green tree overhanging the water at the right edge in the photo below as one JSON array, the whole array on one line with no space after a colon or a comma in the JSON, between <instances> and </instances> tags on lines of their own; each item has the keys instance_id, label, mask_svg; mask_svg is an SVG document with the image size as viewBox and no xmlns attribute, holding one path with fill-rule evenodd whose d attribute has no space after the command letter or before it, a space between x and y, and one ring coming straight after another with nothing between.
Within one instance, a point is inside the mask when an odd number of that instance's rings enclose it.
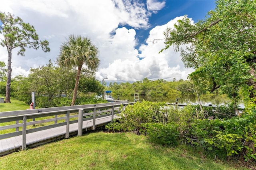
<instances>
[{"instance_id":1,"label":"large leafy green tree overhanging the water at the right edge","mask_svg":"<svg viewBox=\"0 0 256 170\"><path fill-rule=\"evenodd\" d=\"M193 83L208 91L220 88L234 107L241 96L256 105L255 6L253 0L217 0L204 20L192 24L185 16L164 32L164 49L174 46L185 66L195 69Z\"/></svg>"}]
</instances>

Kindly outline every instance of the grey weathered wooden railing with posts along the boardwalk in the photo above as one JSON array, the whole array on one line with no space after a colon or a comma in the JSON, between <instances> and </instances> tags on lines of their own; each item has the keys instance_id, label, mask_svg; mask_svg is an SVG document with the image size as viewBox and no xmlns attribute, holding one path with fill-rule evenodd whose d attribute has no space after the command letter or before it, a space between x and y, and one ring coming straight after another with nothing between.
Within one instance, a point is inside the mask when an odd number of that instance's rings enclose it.
<instances>
[{"instance_id":1,"label":"grey weathered wooden railing with posts along the boardwalk","mask_svg":"<svg viewBox=\"0 0 256 170\"><path fill-rule=\"evenodd\" d=\"M0 139L11 138L22 135L22 149L26 148L26 135L32 132L38 132L50 128L66 126L65 138L70 136L70 125L78 123L78 136L82 136L84 128L87 130L88 122L92 122L92 129L96 128L96 119L100 120L105 117L110 117L107 122L113 120L114 115L121 112L121 105L132 105L128 101L118 101L114 103L101 103L94 105L80 105L69 107L56 107L45 109L33 109L26 111L12 111L0 113ZM36 120L37 119L37 120ZM38 120L40 119L40 120ZM87 121L86 127L83 127L83 122ZM45 125L50 123L50 125ZM106 123L103 122L103 123ZM11 125L7 125L11 124ZM41 127L31 127L30 125L40 125ZM28 129L27 127L30 126ZM4 133L7 129L16 129L15 132ZM21 130L19 130L22 128Z\"/></svg>"}]
</instances>

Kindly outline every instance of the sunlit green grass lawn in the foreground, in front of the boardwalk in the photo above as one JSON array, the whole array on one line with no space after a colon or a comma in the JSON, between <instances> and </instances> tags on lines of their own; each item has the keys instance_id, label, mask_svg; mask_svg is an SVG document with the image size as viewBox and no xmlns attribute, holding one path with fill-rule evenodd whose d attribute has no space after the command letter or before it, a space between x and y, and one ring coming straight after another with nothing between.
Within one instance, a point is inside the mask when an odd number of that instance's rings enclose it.
<instances>
[{"instance_id":1,"label":"sunlit green grass lawn in the foreground, in front of the boardwalk","mask_svg":"<svg viewBox=\"0 0 256 170\"><path fill-rule=\"evenodd\" d=\"M132 133L92 132L0 157L1 170L243 170Z\"/></svg>"}]
</instances>

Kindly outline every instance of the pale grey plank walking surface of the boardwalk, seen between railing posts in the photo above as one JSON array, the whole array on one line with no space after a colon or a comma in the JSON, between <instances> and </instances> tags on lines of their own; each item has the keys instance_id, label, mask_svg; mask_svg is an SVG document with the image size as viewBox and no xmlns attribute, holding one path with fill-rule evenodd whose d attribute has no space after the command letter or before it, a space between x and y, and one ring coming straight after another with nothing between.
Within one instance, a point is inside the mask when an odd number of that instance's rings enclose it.
<instances>
[{"instance_id":1,"label":"pale grey plank walking surface of the boardwalk, seen between railing posts","mask_svg":"<svg viewBox=\"0 0 256 170\"><path fill-rule=\"evenodd\" d=\"M96 127L111 122L111 115L96 119ZM116 115L114 115L116 117ZM90 130L93 127L93 120L83 121L83 131ZM32 148L41 144L52 142L65 138L66 125L50 128L46 130L40 130L26 134L26 145L28 148ZM69 127L70 136L78 133L78 123L70 124ZM22 135L14 136L10 138L0 139L0 156L9 154L11 152L20 150L22 148Z\"/></svg>"}]
</instances>

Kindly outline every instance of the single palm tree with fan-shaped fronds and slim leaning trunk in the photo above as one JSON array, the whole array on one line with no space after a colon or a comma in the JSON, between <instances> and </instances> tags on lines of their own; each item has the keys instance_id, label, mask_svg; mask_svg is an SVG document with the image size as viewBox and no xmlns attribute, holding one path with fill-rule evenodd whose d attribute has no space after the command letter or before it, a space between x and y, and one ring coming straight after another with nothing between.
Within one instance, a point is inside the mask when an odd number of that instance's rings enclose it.
<instances>
[{"instance_id":1,"label":"single palm tree with fan-shaped fronds and slim leaning trunk","mask_svg":"<svg viewBox=\"0 0 256 170\"><path fill-rule=\"evenodd\" d=\"M70 35L67 41L60 46L60 55L58 56L58 63L64 67L78 67L76 74L76 84L74 88L71 106L76 101L76 94L78 90L78 83L82 66L85 64L88 69L96 71L100 65L98 58L98 48L91 42L89 38L82 36Z\"/></svg>"}]
</instances>

